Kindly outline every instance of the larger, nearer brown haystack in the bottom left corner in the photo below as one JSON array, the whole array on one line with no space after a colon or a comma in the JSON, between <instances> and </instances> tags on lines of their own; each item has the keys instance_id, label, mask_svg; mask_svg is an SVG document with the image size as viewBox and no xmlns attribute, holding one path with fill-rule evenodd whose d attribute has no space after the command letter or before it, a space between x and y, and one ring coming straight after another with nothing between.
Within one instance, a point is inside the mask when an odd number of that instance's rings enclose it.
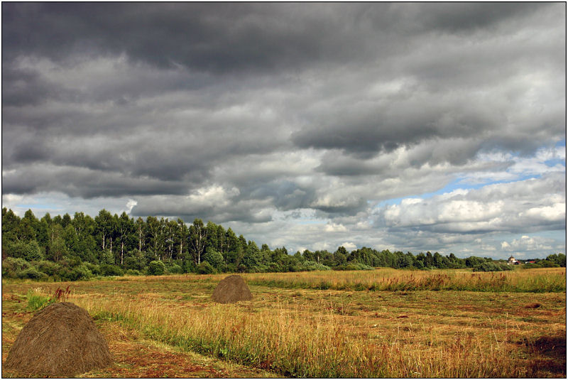
<instances>
[{"instance_id":1,"label":"larger, nearer brown haystack in the bottom left corner","mask_svg":"<svg viewBox=\"0 0 568 380\"><path fill-rule=\"evenodd\" d=\"M26 377L72 377L111 361L107 342L87 310L62 302L35 313L16 337L5 368Z\"/></svg>"}]
</instances>

